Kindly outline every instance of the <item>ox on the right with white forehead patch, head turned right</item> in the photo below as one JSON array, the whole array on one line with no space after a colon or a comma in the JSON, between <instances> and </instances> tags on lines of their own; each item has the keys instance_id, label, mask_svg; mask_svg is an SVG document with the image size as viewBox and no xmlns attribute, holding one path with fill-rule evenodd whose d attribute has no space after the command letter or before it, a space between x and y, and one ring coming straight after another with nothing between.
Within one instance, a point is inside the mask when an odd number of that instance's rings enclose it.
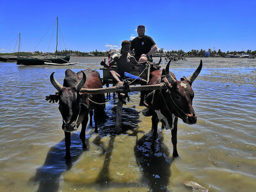
<instances>
[{"instance_id":1,"label":"ox on the right with white forehead patch, head turned right","mask_svg":"<svg viewBox=\"0 0 256 192\"><path fill-rule=\"evenodd\" d=\"M173 156L177 152L177 123L178 117L186 124L196 124L196 114L192 106L194 92L191 88L193 81L202 69L202 60L195 72L186 79L178 81L172 72L169 72L170 61L165 70L156 70L151 73L148 84L164 83L167 89L154 90L147 95L148 110L152 114L153 143L157 138L157 124L162 123L162 128L172 130Z\"/></svg>"}]
</instances>

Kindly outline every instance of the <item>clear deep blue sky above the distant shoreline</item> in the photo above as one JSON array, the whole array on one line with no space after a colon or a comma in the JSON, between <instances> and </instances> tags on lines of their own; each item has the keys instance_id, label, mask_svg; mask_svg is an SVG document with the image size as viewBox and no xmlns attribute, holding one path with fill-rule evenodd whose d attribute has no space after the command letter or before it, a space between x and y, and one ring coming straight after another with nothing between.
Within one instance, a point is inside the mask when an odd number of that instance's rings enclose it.
<instances>
[{"instance_id":1,"label":"clear deep blue sky above the distant shoreline","mask_svg":"<svg viewBox=\"0 0 256 192\"><path fill-rule=\"evenodd\" d=\"M19 33L20 51L54 51L56 35L49 28L57 16L65 42L59 40L58 49L108 51L108 45L120 47L137 36L136 28L143 24L146 35L166 51L256 50L255 0L0 0L0 6L0 52L17 51Z\"/></svg>"}]
</instances>

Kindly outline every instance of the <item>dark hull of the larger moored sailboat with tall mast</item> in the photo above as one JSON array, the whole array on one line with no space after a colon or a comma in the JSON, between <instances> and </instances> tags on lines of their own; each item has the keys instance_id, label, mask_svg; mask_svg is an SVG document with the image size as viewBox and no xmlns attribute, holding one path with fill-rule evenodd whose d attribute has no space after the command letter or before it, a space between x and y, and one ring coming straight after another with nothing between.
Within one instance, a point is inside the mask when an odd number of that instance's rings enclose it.
<instances>
[{"instance_id":1,"label":"dark hull of the larger moored sailboat with tall mast","mask_svg":"<svg viewBox=\"0 0 256 192\"><path fill-rule=\"evenodd\" d=\"M56 57L56 58L49 58L49 57L19 57L17 60L17 65L45 65L45 62L49 63L68 63L70 60L70 56L63 56L63 57Z\"/></svg>"}]
</instances>

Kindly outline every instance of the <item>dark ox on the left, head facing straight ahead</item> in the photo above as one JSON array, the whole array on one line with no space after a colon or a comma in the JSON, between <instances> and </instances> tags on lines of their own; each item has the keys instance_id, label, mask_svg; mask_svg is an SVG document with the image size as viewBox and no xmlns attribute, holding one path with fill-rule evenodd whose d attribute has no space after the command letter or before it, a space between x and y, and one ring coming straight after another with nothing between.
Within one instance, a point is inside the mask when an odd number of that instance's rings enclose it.
<instances>
[{"instance_id":1,"label":"dark ox on the left, head facing straight ahead","mask_svg":"<svg viewBox=\"0 0 256 192\"><path fill-rule=\"evenodd\" d=\"M82 130L79 137L82 140L83 148L86 149L85 144L85 131L88 123L88 114L94 109L95 132L97 132L98 117L104 117L104 105L95 104L94 102L103 103L104 94L93 95L92 101L88 100L87 93L81 94L81 88L102 88L99 72L95 70L84 70L77 74L68 69L65 72L63 86L56 81L53 77L54 72L51 74L51 83L58 90L59 110L63 118L62 129L65 131L65 145L66 156L70 158L70 132L76 131L80 124ZM51 95L50 95L51 96ZM48 100L52 100L49 98Z\"/></svg>"}]
</instances>

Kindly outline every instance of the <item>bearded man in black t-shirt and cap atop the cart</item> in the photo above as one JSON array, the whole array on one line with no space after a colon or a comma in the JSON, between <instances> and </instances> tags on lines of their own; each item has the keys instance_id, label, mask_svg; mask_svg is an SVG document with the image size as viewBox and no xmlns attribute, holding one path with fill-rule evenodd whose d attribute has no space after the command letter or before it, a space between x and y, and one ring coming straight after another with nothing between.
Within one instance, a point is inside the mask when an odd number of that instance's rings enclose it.
<instances>
[{"instance_id":1,"label":"bearded man in black t-shirt and cap atop the cart","mask_svg":"<svg viewBox=\"0 0 256 192\"><path fill-rule=\"evenodd\" d=\"M152 61L152 54L157 50L154 40L145 35L145 26L138 26L138 36L131 42L131 50L134 51L134 57L139 63Z\"/></svg>"}]
</instances>

